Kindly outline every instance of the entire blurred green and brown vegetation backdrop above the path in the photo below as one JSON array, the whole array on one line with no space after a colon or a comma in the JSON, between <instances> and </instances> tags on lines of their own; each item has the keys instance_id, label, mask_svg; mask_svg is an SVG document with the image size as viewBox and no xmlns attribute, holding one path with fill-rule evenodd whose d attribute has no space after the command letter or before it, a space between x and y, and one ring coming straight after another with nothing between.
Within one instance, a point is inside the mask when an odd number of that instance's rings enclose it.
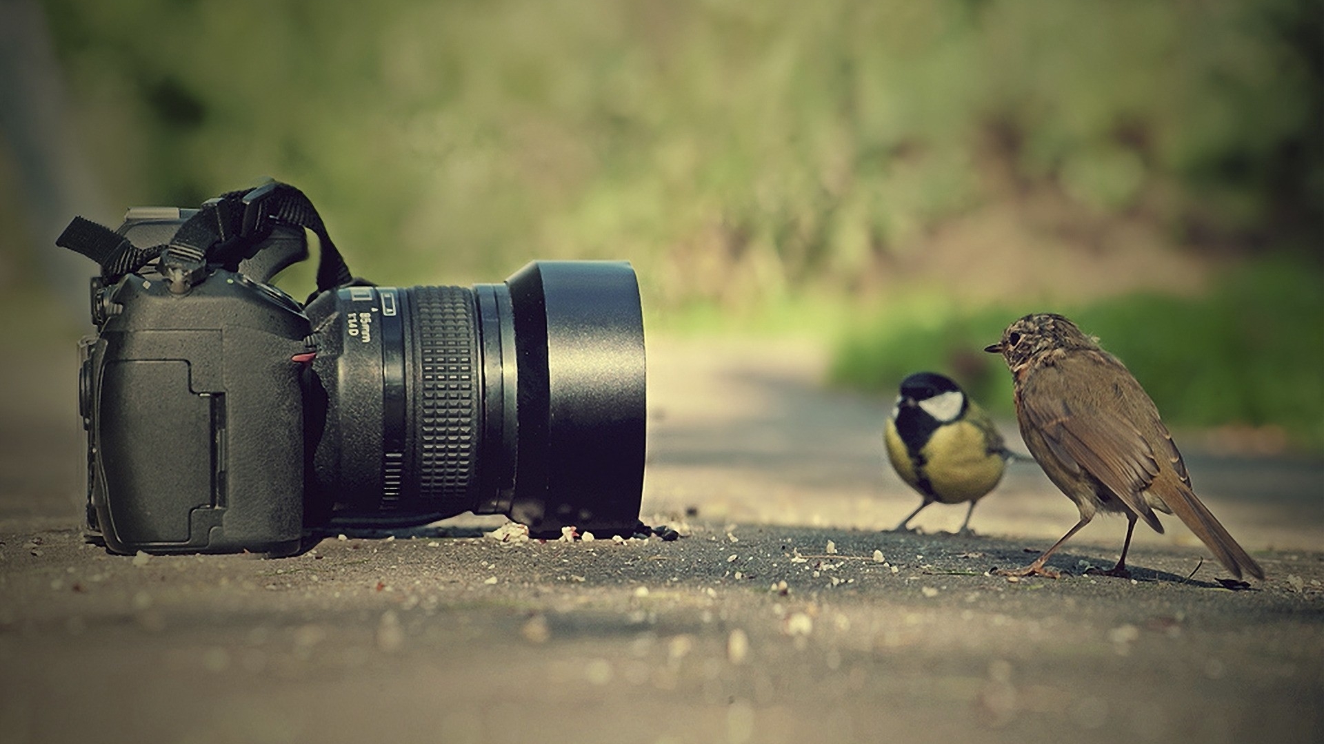
<instances>
[{"instance_id":1,"label":"entire blurred green and brown vegetation backdrop above the path","mask_svg":"<svg viewBox=\"0 0 1324 744\"><path fill-rule=\"evenodd\" d=\"M383 283L626 258L650 328L841 336L883 395L1000 405L978 347L1051 307L1176 424L1324 446L1317 0L40 5L117 209L270 175Z\"/></svg>"}]
</instances>

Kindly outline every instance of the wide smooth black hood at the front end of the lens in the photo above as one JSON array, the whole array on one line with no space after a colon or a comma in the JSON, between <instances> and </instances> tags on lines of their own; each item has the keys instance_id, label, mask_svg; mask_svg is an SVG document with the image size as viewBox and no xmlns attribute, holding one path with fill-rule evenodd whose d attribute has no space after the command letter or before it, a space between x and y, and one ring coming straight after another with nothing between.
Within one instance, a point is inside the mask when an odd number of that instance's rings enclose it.
<instances>
[{"instance_id":1,"label":"wide smooth black hood at the front end of the lens","mask_svg":"<svg viewBox=\"0 0 1324 744\"><path fill-rule=\"evenodd\" d=\"M634 270L535 261L507 279L519 454L510 515L531 532L629 532L643 487L646 373Z\"/></svg>"}]
</instances>

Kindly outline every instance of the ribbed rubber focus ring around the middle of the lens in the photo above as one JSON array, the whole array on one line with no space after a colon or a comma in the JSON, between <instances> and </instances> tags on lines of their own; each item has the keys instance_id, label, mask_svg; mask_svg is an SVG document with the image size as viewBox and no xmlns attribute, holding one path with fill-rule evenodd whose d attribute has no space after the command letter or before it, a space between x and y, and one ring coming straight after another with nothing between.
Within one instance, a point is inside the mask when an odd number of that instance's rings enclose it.
<instances>
[{"instance_id":1,"label":"ribbed rubber focus ring around the middle of the lens","mask_svg":"<svg viewBox=\"0 0 1324 744\"><path fill-rule=\"evenodd\" d=\"M417 353L409 372L409 396L418 498L467 504L478 447L474 294L465 287L437 286L412 287L408 293L413 299L410 330Z\"/></svg>"}]
</instances>

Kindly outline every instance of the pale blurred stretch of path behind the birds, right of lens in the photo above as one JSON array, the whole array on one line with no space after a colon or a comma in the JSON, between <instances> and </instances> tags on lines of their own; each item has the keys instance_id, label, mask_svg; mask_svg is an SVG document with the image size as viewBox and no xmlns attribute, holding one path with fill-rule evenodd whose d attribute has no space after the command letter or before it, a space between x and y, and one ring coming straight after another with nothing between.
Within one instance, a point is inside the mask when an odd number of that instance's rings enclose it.
<instances>
[{"instance_id":1,"label":"pale blurred stretch of path behind the birds, right of lens","mask_svg":"<svg viewBox=\"0 0 1324 744\"><path fill-rule=\"evenodd\" d=\"M825 365L822 349L804 342L653 342L645 508L694 506L712 519L859 530L900 522L919 496L883 453L891 401L822 391ZM1002 428L1025 453L1014 422ZM1201 498L1245 547L1324 549L1324 462L1185 450ZM964 515L965 507L936 504L915 524L953 531ZM1078 516L1038 465L1016 462L970 524L1051 544ZM1200 545L1180 522L1166 522L1165 535L1137 531L1136 544ZM1107 545L1108 555L1124 534L1124 520L1100 516L1074 540Z\"/></svg>"}]
</instances>

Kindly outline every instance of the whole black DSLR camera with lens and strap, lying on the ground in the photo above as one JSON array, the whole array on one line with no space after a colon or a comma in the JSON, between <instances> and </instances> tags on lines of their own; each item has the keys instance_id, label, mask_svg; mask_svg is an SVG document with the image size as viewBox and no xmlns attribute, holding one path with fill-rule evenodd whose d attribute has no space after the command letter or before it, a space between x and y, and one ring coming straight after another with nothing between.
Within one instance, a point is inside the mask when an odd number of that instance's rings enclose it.
<instances>
[{"instance_id":1,"label":"whole black DSLR camera with lens and strap, lying on the ground","mask_svg":"<svg viewBox=\"0 0 1324 744\"><path fill-rule=\"evenodd\" d=\"M269 283L308 257L306 304ZM500 285L355 279L307 197L81 217L102 266L83 339L87 523L120 553L291 555L346 528L506 514L630 534L643 322L626 262L535 261Z\"/></svg>"}]
</instances>

